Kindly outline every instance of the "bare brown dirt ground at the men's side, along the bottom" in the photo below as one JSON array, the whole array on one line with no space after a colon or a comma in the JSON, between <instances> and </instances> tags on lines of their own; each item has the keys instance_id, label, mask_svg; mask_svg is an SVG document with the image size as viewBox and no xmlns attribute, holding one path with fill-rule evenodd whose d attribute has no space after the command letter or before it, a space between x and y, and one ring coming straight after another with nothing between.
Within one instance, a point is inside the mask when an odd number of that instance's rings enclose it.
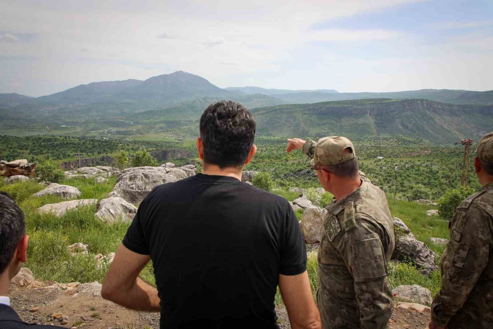
<instances>
[{"instance_id":1,"label":"bare brown dirt ground at the men's side, along the bottom","mask_svg":"<svg viewBox=\"0 0 493 329\"><path fill-rule=\"evenodd\" d=\"M159 328L158 313L132 311L108 302L101 297L101 286L97 283L84 284L73 290L61 290L54 284L54 282L38 283L38 286L44 286L43 288L11 285L9 290L11 306L22 320L31 323L89 329ZM418 305L417 308L420 306ZM280 327L290 329L286 309L277 306L276 312ZM389 328L424 329L427 328L429 319L429 308L420 311L414 308L404 309L397 305L389 322Z\"/></svg>"}]
</instances>

